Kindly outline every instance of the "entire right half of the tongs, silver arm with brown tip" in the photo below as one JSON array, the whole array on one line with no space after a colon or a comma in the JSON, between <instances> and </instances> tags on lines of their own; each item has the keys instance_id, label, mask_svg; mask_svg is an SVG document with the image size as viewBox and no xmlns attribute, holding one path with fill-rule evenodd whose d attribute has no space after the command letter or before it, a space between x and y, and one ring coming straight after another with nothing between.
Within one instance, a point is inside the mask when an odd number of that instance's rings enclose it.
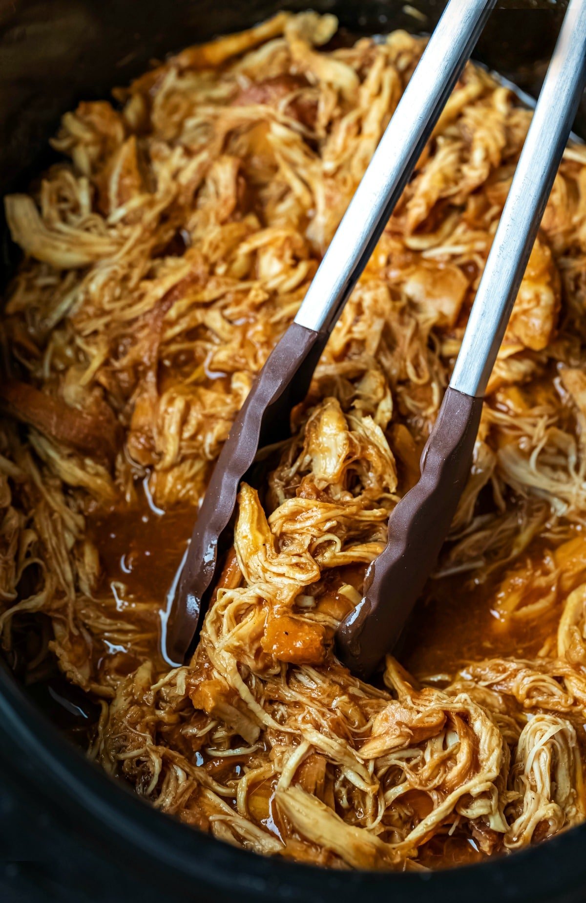
<instances>
[{"instance_id":1,"label":"entire right half of the tongs, silver arm with brown tip","mask_svg":"<svg viewBox=\"0 0 586 903\"><path fill-rule=\"evenodd\" d=\"M421 457L421 478L394 509L364 596L336 633L338 656L368 677L397 642L431 573L472 464L486 388L586 79L586 0L571 0L513 177L453 378Z\"/></svg>"}]
</instances>

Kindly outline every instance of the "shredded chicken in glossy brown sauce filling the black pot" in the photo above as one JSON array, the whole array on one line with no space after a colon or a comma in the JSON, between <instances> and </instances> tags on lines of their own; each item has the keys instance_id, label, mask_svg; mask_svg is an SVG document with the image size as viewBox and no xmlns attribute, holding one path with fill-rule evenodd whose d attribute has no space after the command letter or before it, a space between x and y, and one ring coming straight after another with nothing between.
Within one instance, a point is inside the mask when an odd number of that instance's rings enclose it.
<instances>
[{"instance_id":1,"label":"shredded chicken in glossy brown sauce filling the black pot","mask_svg":"<svg viewBox=\"0 0 586 903\"><path fill-rule=\"evenodd\" d=\"M164 610L215 459L423 50L281 13L63 116L5 200L0 628L99 703L90 754L270 856L423 869L584 819L586 154L573 145L404 664L334 656L418 461L530 113L469 64L316 368L243 483L197 651ZM334 49L333 49L334 48ZM162 612L162 615L161 615ZM50 625L50 631L48 629ZM36 639L35 639L36 638ZM36 644L36 645L35 645Z\"/></svg>"}]
</instances>

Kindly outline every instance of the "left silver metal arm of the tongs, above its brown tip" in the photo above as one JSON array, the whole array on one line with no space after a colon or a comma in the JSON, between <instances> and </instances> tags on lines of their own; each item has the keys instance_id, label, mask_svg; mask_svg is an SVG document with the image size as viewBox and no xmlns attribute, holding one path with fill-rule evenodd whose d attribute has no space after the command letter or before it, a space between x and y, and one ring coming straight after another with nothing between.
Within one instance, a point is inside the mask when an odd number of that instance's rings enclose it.
<instances>
[{"instance_id":1,"label":"left silver metal arm of the tongs, above its brown tip","mask_svg":"<svg viewBox=\"0 0 586 903\"><path fill-rule=\"evenodd\" d=\"M295 321L331 330L367 264L496 0L450 0Z\"/></svg>"}]
</instances>

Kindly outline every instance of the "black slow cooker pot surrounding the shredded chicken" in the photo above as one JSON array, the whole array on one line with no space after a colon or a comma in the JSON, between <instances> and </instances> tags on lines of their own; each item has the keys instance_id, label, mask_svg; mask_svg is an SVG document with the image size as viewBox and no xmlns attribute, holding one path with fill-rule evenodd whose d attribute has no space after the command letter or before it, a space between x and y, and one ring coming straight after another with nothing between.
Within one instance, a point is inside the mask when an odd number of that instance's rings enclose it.
<instances>
[{"instance_id":1,"label":"black slow cooker pot surrounding the shredded chicken","mask_svg":"<svg viewBox=\"0 0 586 903\"><path fill-rule=\"evenodd\" d=\"M440 0L0 0L0 189L48 162L47 139L82 98L107 97L153 59L237 31L278 9L334 12L350 35L429 32ZM564 2L500 4L474 54L536 94ZM425 14L425 21L413 9ZM586 135L586 98L576 131ZM14 265L5 239L4 277ZM116 786L51 723L60 707L0 666L0 890L3 899L221 901L586 897L586 826L543 846L433 874L326 872L261 859L162 817Z\"/></svg>"}]
</instances>

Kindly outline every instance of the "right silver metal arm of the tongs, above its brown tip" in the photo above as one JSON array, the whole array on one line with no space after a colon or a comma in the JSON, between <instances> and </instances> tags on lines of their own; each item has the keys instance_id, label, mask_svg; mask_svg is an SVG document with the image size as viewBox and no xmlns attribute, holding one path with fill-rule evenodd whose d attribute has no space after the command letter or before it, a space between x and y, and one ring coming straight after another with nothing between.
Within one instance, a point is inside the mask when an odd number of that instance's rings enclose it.
<instances>
[{"instance_id":1,"label":"right silver metal arm of the tongs, above its brown tip","mask_svg":"<svg viewBox=\"0 0 586 903\"><path fill-rule=\"evenodd\" d=\"M453 368L466 395L484 395L585 81L586 0L571 0Z\"/></svg>"}]
</instances>

